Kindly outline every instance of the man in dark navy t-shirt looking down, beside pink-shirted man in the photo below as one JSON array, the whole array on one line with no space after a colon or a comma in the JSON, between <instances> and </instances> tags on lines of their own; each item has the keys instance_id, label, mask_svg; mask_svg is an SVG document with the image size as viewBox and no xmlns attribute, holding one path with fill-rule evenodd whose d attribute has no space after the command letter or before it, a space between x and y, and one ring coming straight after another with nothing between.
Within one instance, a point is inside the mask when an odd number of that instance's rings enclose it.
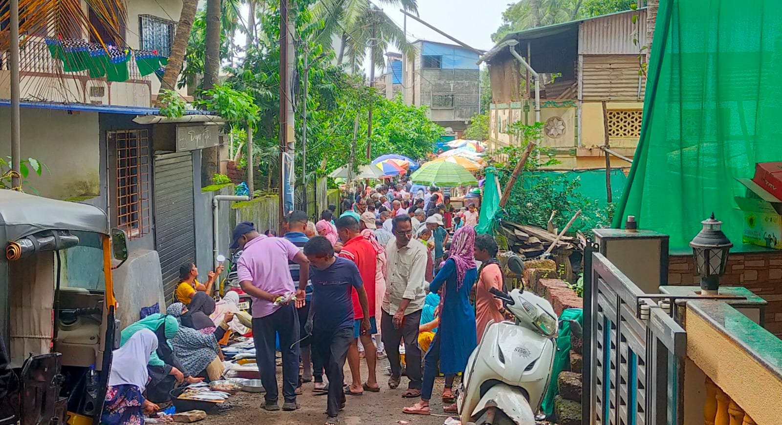
<instances>
[{"instance_id":1,"label":"man in dark navy t-shirt looking down, beside pink-shirted man","mask_svg":"<svg viewBox=\"0 0 782 425\"><path fill-rule=\"evenodd\" d=\"M312 266L312 300L304 329L310 334L312 348L325 366L328 377L327 423L337 423L339 409L345 405L343 368L353 335L352 290L356 289L364 320L361 334L367 334L369 299L364 282L355 263L334 256L334 247L328 239L316 236L304 245L304 255ZM317 317L317 322L314 318Z\"/></svg>"}]
</instances>

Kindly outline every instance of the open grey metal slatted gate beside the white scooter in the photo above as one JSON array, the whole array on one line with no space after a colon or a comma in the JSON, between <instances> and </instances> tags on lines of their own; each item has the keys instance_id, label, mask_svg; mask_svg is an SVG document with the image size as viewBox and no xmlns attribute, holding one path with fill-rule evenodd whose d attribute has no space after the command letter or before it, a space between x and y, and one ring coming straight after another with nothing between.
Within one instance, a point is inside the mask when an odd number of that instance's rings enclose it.
<instances>
[{"instance_id":1,"label":"open grey metal slatted gate beside the white scooter","mask_svg":"<svg viewBox=\"0 0 782 425\"><path fill-rule=\"evenodd\" d=\"M665 295L644 294L594 248L584 264L583 422L680 424L686 334L670 304L658 306Z\"/></svg>"}]
</instances>

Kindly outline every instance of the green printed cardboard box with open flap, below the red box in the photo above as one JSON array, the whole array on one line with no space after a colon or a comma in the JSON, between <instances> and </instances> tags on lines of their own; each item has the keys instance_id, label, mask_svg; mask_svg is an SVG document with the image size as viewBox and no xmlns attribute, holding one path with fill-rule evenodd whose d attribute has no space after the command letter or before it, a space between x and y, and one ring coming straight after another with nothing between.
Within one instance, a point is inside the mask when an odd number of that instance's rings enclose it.
<instances>
[{"instance_id":1,"label":"green printed cardboard box with open flap, below the red box","mask_svg":"<svg viewBox=\"0 0 782 425\"><path fill-rule=\"evenodd\" d=\"M736 179L747 187L745 197L734 198L744 213L745 244L782 249L782 201L749 179Z\"/></svg>"}]
</instances>

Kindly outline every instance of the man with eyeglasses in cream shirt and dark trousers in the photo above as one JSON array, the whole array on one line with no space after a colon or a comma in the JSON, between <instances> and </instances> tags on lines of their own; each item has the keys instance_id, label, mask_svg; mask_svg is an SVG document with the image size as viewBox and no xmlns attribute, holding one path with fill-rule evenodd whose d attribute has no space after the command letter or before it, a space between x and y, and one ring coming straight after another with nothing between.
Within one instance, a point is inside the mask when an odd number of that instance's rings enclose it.
<instances>
[{"instance_id":1,"label":"man with eyeglasses in cream shirt and dark trousers","mask_svg":"<svg viewBox=\"0 0 782 425\"><path fill-rule=\"evenodd\" d=\"M405 398L421 395L421 348L418 347L418 323L424 306L426 248L413 240L410 217L396 216L392 222L394 238L386 245L386 296L382 302L380 323L383 345L386 346L391 377L389 388L397 388L402 376L399 357L400 341L404 340L407 391Z\"/></svg>"}]
</instances>

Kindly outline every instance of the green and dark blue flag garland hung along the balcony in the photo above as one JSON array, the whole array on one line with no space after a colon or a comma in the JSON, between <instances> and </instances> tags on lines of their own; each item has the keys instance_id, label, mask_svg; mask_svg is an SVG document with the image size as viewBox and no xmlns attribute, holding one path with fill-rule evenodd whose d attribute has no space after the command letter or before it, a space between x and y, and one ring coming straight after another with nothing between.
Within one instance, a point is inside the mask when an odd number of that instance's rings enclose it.
<instances>
[{"instance_id":1,"label":"green and dark blue flag garland hung along the balcony","mask_svg":"<svg viewBox=\"0 0 782 425\"><path fill-rule=\"evenodd\" d=\"M131 59L131 51L128 48L112 45L104 48L80 38L45 37L44 40L52 59L62 61L66 73L86 70L91 78L105 76L106 80L114 82L130 80L127 62ZM162 78L167 57L160 56L156 50L138 50L133 55L142 77L156 73Z\"/></svg>"}]
</instances>

